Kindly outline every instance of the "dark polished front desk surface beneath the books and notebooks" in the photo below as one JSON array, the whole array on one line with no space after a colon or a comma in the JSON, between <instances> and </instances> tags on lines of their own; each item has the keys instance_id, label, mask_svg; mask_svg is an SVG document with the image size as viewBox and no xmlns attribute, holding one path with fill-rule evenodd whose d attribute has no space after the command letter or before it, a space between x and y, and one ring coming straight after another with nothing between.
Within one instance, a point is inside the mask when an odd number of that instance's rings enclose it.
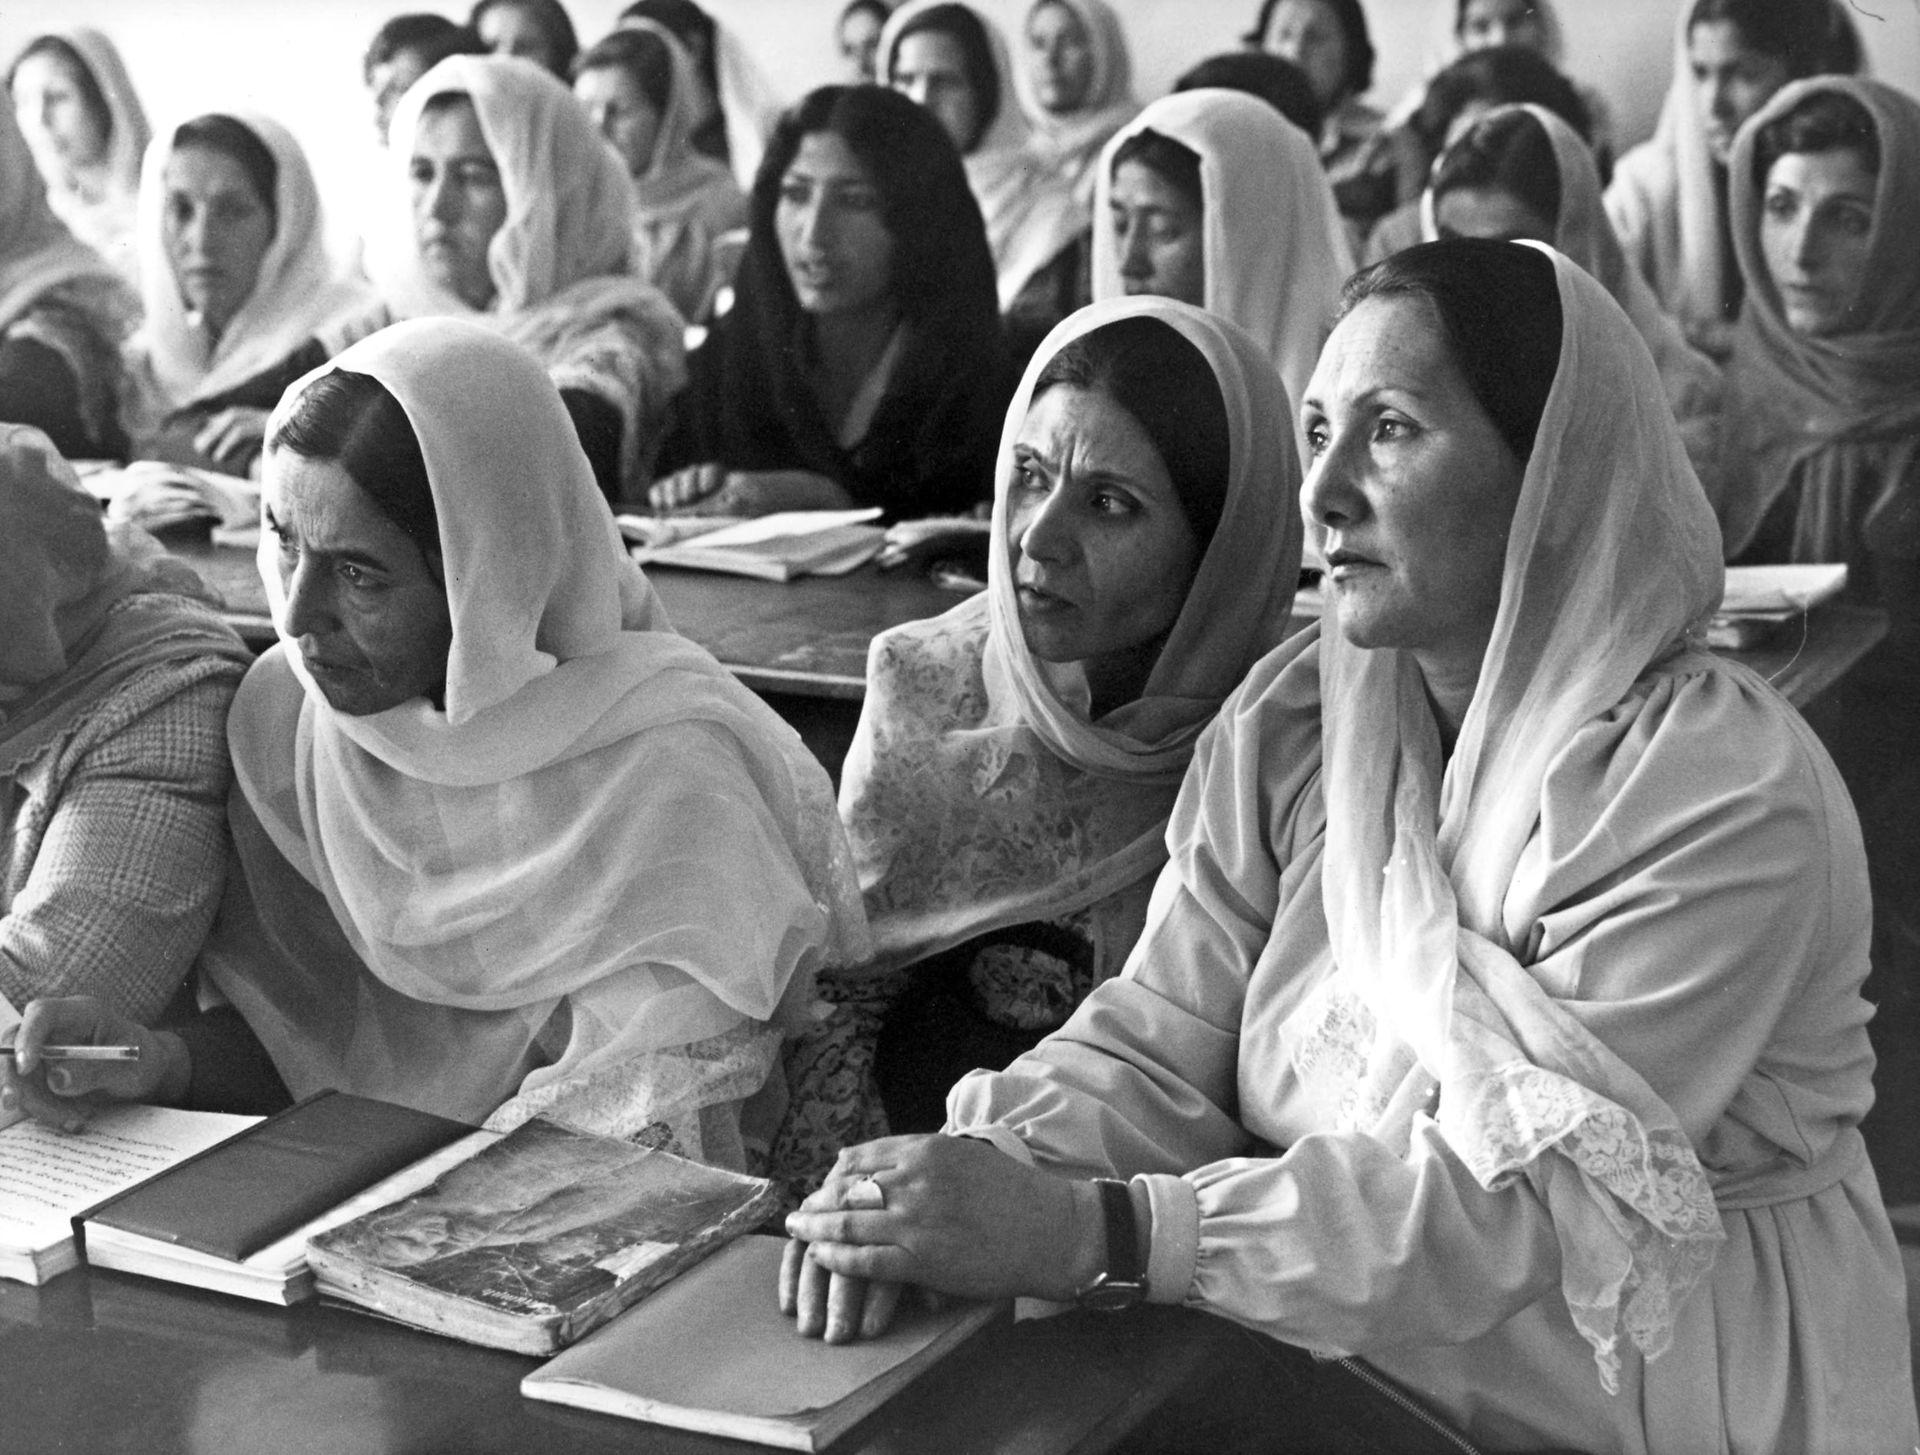
<instances>
[{"instance_id":1,"label":"dark polished front desk surface beneath the books and notebooks","mask_svg":"<svg viewBox=\"0 0 1920 1455\"><path fill-rule=\"evenodd\" d=\"M772 1298L772 1290L768 1290ZM799 1338L799 1336L795 1336ZM1236 1332L1187 1309L998 1324L835 1455L1112 1447ZM344 1309L75 1269L0 1280L0 1449L275 1455L747 1455L758 1445L520 1395L540 1361Z\"/></svg>"}]
</instances>

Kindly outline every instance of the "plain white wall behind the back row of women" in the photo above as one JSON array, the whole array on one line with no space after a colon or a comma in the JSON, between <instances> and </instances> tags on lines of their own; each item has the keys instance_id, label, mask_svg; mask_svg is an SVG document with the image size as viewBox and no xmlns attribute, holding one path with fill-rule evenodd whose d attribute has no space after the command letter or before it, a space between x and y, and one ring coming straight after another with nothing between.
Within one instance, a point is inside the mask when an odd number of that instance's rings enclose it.
<instances>
[{"instance_id":1,"label":"plain white wall behind the back row of women","mask_svg":"<svg viewBox=\"0 0 1920 1455\"><path fill-rule=\"evenodd\" d=\"M1874 73L1920 94L1920 0L1853 0ZM626 0L566 0L582 42ZM783 100L837 79L839 0L703 0L739 36ZM1018 27L1031 0L981 0ZM1231 50L1258 0L1116 0L1133 42L1139 94L1152 98L1192 61ZM1622 144L1647 134L1667 90L1684 0L1559 0L1567 69L1609 100ZM305 144L321 194L346 228L371 188L374 148L359 60L369 36L432 0L0 0L0 56L54 25L96 25L127 56L156 129L221 107L280 117ZM1380 52L1375 96L1392 102L1427 69L1452 0L1367 0Z\"/></svg>"}]
</instances>

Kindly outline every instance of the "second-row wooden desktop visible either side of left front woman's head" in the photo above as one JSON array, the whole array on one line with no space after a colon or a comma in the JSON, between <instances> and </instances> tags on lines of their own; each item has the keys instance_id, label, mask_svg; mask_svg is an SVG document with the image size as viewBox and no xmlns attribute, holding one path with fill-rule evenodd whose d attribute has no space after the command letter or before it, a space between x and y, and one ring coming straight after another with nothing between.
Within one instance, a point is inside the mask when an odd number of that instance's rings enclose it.
<instances>
[{"instance_id":1,"label":"second-row wooden desktop visible either side of left front woman's head","mask_svg":"<svg viewBox=\"0 0 1920 1455\"><path fill-rule=\"evenodd\" d=\"M273 643L252 551L207 543L173 549L221 595L248 645ZM674 626L755 691L854 704L866 695L866 649L877 633L964 599L918 570L874 566L799 582L655 566L647 580Z\"/></svg>"}]
</instances>

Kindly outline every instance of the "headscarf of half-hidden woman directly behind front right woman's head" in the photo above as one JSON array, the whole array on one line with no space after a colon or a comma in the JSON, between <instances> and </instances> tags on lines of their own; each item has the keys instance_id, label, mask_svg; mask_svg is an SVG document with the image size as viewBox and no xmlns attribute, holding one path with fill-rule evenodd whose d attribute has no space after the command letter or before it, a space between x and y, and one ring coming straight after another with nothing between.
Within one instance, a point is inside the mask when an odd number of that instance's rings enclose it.
<instances>
[{"instance_id":1,"label":"headscarf of half-hidden woman directly behind front right woman's head","mask_svg":"<svg viewBox=\"0 0 1920 1455\"><path fill-rule=\"evenodd\" d=\"M1599 278L1613 301L1634 321L1642 342L1653 355L1661 370L1661 384L1667 386L1667 401L1672 405L1674 420L1680 424L1680 438L1686 441L1688 457L1711 499L1718 495L1718 417L1724 399L1720 367L1705 353L1688 344L1680 324L1674 322L1653 298L1640 269L1626 261L1620 240L1613 230L1607 209L1599 196L1599 169L1594 165L1594 152L1580 132L1548 111L1544 106L1496 106L1482 115L1473 129L1461 134L1471 136L1486 121L1507 111L1524 111L1548 134L1553 148L1553 167L1559 175L1559 217L1553 223L1553 246ZM1438 173L1438 167L1434 169ZM1421 194L1421 238L1432 242L1440 236L1434 217L1432 184Z\"/></svg>"}]
</instances>

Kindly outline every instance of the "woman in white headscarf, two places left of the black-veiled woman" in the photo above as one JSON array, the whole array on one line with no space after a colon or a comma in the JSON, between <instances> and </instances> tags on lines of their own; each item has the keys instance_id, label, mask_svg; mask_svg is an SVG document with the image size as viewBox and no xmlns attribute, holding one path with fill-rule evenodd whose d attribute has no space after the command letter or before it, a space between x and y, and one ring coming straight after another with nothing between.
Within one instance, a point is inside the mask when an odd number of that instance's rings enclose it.
<instances>
[{"instance_id":1,"label":"woman in white headscarf, two places left of the black-veiled woman","mask_svg":"<svg viewBox=\"0 0 1920 1455\"><path fill-rule=\"evenodd\" d=\"M371 301L328 251L305 152L253 113L173 129L146 152L138 242L146 321L121 405L132 455L246 474L267 411Z\"/></svg>"}]
</instances>

